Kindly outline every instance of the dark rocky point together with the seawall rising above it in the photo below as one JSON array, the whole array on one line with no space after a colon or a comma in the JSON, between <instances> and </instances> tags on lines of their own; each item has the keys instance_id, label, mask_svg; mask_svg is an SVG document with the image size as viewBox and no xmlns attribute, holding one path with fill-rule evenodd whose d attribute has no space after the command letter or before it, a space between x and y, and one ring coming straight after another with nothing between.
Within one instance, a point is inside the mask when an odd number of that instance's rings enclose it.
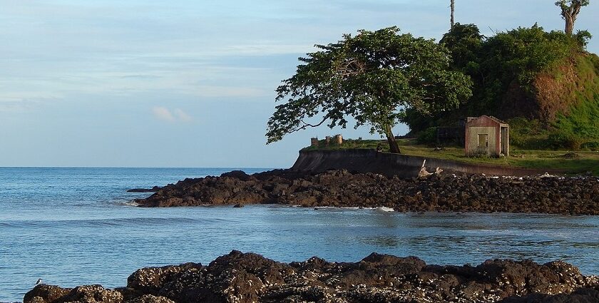
<instances>
[{"instance_id":1,"label":"dark rocky point together with the seawall rising above it","mask_svg":"<svg viewBox=\"0 0 599 303\"><path fill-rule=\"evenodd\" d=\"M444 164L444 172L416 178L420 161L373 150L303 152L288 170L188 178L135 202L141 207L281 204L599 215L599 179L593 176L533 175L540 171L431 160ZM475 169L491 175L467 172Z\"/></svg>"}]
</instances>

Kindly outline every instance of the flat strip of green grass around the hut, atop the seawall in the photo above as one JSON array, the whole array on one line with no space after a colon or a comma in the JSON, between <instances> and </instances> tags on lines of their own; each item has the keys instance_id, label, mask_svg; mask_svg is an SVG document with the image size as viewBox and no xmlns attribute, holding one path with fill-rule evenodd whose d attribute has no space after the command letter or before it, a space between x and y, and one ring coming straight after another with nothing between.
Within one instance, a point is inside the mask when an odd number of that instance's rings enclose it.
<instances>
[{"instance_id":1,"label":"flat strip of green grass around the hut, atop the seawall","mask_svg":"<svg viewBox=\"0 0 599 303\"><path fill-rule=\"evenodd\" d=\"M302 150L344 150L352 148L375 149L381 143L383 152L389 151L389 144L386 140L344 140L341 145L329 143L325 145L324 140L319 141L319 147L308 147ZM566 158L568 150L516 150L510 151L509 157L502 158L469 158L466 157L464 148L446 147L444 150L437 151L426 145L419 145L416 139L398 140L401 153L404 155L416 155L426 158L436 158L444 160L454 160L463 163L505 165L518 168L536 168L536 169L559 169L568 174L580 174L591 172L593 175L599 175L599 152L596 151L576 151L578 158Z\"/></svg>"}]
</instances>

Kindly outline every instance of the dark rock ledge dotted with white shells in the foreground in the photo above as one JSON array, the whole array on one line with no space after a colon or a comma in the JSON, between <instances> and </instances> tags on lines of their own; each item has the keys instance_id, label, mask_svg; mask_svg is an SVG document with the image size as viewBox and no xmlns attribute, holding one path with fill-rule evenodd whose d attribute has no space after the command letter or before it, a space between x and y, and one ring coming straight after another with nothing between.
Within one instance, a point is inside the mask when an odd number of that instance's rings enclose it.
<instances>
[{"instance_id":1,"label":"dark rock ledge dotted with white shells in the foreground","mask_svg":"<svg viewBox=\"0 0 599 303\"><path fill-rule=\"evenodd\" d=\"M599 302L599 277L560 261L439 266L373 253L356 263L286 264L234 250L208 266L138 269L122 288L41 284L25 294L34 302Z\"/></svg>"}]
</instances>

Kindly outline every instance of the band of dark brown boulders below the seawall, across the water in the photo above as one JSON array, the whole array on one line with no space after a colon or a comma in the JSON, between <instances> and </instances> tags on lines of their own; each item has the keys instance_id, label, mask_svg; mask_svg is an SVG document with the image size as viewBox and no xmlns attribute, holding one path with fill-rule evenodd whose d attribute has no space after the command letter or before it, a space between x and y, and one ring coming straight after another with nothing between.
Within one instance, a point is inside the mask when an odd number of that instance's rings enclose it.
<instances>
[{"instance_id":1,"label":"band of dark brown boulders below the seawall, across the water","mask_svg":"<svg viewBox=\"0 0 599 303\"><path fill-rule=\"evenodd\" d=\"M142 207L284 204L304 207L391 207L399 212L537 212L599 215L595 177L493 178L441 175L426 180L329 170L272 170L185 179L167 185Z\"/></svg>"}]
</instances>

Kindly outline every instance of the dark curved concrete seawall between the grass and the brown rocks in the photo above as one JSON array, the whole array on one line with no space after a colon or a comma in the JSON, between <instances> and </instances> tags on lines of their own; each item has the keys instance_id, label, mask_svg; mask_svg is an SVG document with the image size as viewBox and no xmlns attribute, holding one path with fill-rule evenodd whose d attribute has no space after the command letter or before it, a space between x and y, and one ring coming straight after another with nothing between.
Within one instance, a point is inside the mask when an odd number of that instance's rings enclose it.
<instances>
[{"instance_id":1,"label":"dark curved concrete seawall between the grass and the brown rocks","mask_svg":"<svg viewBox=\"0 0 599 303\"><path fill-rule=\"evenodd\" d=\"M425 158L412 155L379 153L370 149L354 150L300 150L292 170L320 173L329 169L345 169L359 173L380 173L386 176L398 175L413 178L418 175L422 162L426 159L426 170L434 172L442 168L445 173L471 173L485 175L541 175L562 173L560 170L535 170L528 168L508 168L498 165L478 165L459 163L451 160Z\"/></svg>"}]
</instances>

